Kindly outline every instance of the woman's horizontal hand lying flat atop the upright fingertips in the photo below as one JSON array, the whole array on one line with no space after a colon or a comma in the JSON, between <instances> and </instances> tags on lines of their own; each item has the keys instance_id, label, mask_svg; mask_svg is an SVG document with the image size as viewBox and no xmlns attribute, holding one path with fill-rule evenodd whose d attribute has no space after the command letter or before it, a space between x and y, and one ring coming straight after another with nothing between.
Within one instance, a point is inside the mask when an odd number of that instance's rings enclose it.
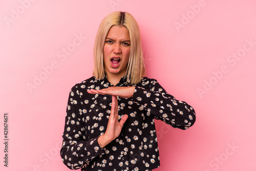
<instances>
[{"instance_id":1,"label":"woman's horizontal hand lying flat atop the upright fingertips","mask_svg":"<svg viewBox=\"0 0 256 171\"><path fill-rule=\"evenodd\" d=\"M112 96L119 96L122 98L130 98L133 97L135 87L109 87L106 89L101 89L101 90L95 90L95 89L90 89L87 90L88 93L90 94L109 94Z\"/></svg>"}]
</instances>

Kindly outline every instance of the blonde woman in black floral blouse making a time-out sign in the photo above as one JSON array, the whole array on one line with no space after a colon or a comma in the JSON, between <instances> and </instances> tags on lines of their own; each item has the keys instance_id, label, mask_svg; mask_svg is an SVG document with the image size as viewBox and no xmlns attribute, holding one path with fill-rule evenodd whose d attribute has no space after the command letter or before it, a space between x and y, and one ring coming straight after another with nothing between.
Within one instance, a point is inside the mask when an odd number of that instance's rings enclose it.
<instances>
[{"instance_id":1,"label":"blonde woman in black floral blouse making a time-out sign","mask_svg":"<svg viewBox=\"0 0 256 171\"><path fill-rule=\"evenodd\" d=\"M143 77L140 32L127 12L99 26L94 73L75 84L67 105L61 157L71 169L152 170L159 167L154 119L186 130L195 111Z\"/></svg>"}]
</instances>

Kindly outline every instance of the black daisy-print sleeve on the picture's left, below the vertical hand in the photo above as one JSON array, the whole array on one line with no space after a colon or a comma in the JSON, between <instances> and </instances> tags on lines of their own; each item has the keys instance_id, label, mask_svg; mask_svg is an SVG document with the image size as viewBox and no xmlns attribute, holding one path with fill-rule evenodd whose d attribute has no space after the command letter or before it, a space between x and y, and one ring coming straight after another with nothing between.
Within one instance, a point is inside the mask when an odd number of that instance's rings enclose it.
<instances>
[{"instance_id":1,"label":"black daisy-print sleeve on the picture's left, below the vertical hand","mask_svg":"<svg viewBox=\"0 0 256 171\"><path fill-rule=\"evenodd\" d=\"M66 124L60 155L63 163L70 169L78 169L96 156L104 154L98 144L98 137L86 139L82 92L74 86L69 95Z\"/></svg>"}]
</instances>

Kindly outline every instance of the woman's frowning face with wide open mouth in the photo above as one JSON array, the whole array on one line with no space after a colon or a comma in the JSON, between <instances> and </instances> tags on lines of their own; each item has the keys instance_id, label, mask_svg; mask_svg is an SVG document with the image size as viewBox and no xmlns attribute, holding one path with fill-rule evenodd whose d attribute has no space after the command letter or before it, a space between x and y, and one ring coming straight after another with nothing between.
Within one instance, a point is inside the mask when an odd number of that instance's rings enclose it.
<instances>
[{"instance_id":1,"label":"woman's frowning face with wide open mouth","mask_svg":"<svg viewBox=\"0 0 256 171\"><path fill-rule=\"evenodd\" d=\"M130 56L130 35L125 27L112 26L103 48L106 75L125 75Z\"/></svg>"}]
</instances>

